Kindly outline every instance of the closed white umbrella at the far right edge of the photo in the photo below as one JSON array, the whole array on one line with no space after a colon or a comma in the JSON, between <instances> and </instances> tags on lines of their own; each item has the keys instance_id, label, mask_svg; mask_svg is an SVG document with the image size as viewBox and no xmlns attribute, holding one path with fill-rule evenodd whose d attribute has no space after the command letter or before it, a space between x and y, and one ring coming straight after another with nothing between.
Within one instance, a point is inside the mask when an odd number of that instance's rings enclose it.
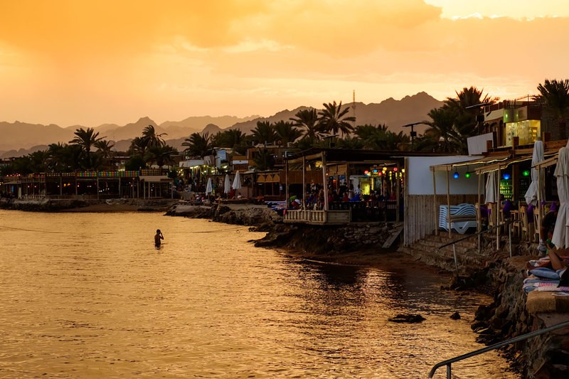
<instances>
[{"instance_id":1,"label":"closed white umbrella at the far right edge of the photo","mask_svg":"<svg viewBox=\"0 0 569 379\"><path fill-rule=\"evenodd\" d=\"M553 175L557 178L557 193L559 196L559 210L557 213L557 221L555 221L555 229L551 242L558 248L569 246L569 147L565 146L559 149L557 166Z\"/></svg>"}]
</instances>

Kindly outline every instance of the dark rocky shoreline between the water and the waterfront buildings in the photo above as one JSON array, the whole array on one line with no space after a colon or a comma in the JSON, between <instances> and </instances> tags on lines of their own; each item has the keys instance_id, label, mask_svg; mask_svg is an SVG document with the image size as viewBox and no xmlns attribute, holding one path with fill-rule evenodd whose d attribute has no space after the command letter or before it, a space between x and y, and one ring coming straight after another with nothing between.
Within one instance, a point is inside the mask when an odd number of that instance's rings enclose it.
<instances>
[{"instance_id":1,"label":"dark rocky shoreline between the water and the waterfront buildings","mask_svg":"<svg viewBox=\"0 0 569 379\"><path fill-rule=\"evenodd\" d=\"M460 247L461 265L464 265L461 277L449 269L454 266L452 250L437 250L440 240L426 238L427 245L419 245L417 249L403 247L398 239L392 247L383 249L383 241L388 237L393 223L385 225L358 223L344 226L317 227L314 225L283 224L281 219L272 215L267 208L248 208L239 205L235 209L231 205L180 205L177 201L166 204L82 204L70 206L66 212L120 213L139 212L140 210L164 212L164 215L204 218L228 225L248 225L250 230L266 232L258 240L250 240L255 247L265 247L277 250L283 255L298 257L307 262L317 262L327 265L350 265L359 267L382 268L405 267L413 272L428 270L441 277L441 290L457 290L467 292L482 292L493 297L489 304L479 306L473 321L472 329L477 335L477 341L482 346L505 341L513 336L519 336L528 331L541 329L546 319L539 313L530 313L526 309L526 294L521 290L523 272L521 263L531 258L528 253L531 246L516 247L514 259L507 257L502 249L494 251L494 242L488 239L484 242L482 255L477 255L472 247ZM180 206L179 206L180 205ZM165 207L159 208L159 207ZM6 208L6 207L0 207ZM237 209L239 208L239 209ZM28 206L21 209L28 211L48 211L42 208L38 201L36 207ZM56 212L64 210L55 210ZM435 243L435 245L432 245ZM506 246L507 244L504 244ZM462 250L464 249L464 250ZM477 255L479 259L472 259ZM469 258L467 260L467 258ZM474 257L476 258L476 257ZM444 285L447 280L449 285ZM538 341L538 351L527 346L510 345L502 353L509 358L511 369L519 373L531 375L552 370L553 361L540 355L548 349L558 348L558 343L551 345L548 339ZM545 360L545 361L544 361Z\"/></svg>"}]
</instances>

